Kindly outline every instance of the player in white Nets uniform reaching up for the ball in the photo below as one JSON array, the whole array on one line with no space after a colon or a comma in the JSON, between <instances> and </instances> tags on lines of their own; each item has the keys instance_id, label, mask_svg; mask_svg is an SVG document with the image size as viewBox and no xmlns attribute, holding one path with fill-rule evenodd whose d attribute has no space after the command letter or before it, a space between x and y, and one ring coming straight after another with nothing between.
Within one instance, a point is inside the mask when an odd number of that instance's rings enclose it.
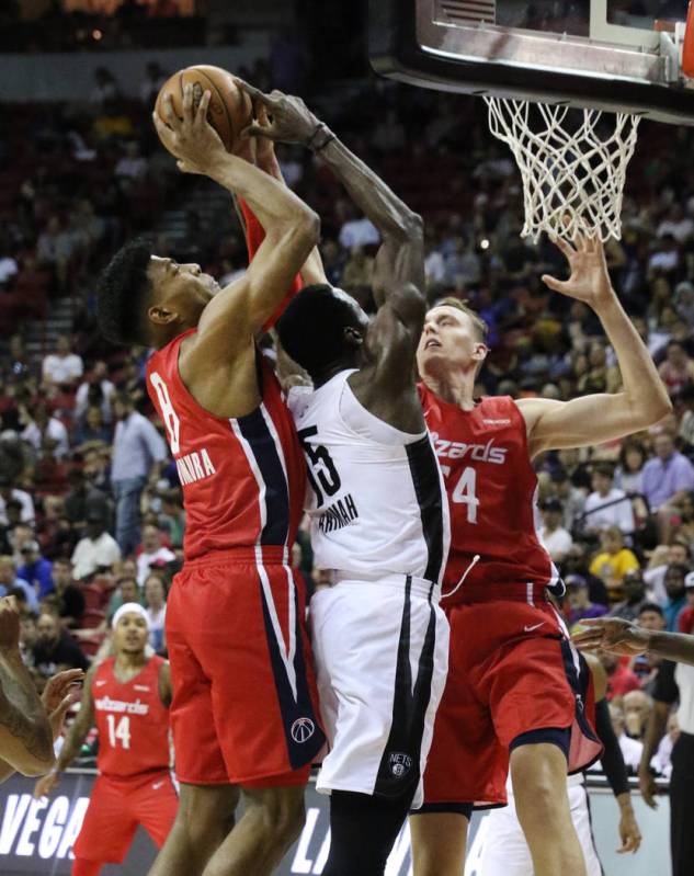
<instances>
[{"instance_id":1,"label":"player in white Nets uniform reaching up for the ball","mask_svg":"<svg viewBox=\"0 0 694 876\"><path fill-rule=\"evenodd\" d=\"M277 322L314 384L294 390L289 408L309 470L315 562L332 574L310 605L331 746L318 777L331 794L323 876L380 876L421 801L448 652L437 605L447 500L414 383L426 307L422 225L302 101L253 96L273 122L251 130L309 144L383 240L371 323L325 275Z\"/></svg>"}]
</instances>

